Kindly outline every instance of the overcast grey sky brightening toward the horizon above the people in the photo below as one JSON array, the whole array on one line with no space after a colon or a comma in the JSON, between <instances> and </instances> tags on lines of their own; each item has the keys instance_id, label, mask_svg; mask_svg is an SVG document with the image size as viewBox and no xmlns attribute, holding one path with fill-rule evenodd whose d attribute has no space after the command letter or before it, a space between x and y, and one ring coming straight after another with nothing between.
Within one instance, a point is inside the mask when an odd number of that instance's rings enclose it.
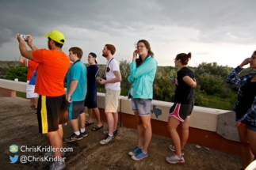
<instances>
[{"instance_id":1,"label":"overcast grey sky brightening toward the horizon above the people","mask_svg":"<svg viewBox=\"0 0 256 170\"><path fill-rule=\"evenodd\" d=\"M117 47L118 60L131 61L136 42L145 39L161 66L189 51L193 66L236 66L256 50L255 6L254 0L1 0L0 58L18 59L17 33L31 34L37 47L47 48L42 35L58 29L66 36L63 51L82 47L83 62L94 51L105 63L105 43Z\"/></svg>"}]
</instances>

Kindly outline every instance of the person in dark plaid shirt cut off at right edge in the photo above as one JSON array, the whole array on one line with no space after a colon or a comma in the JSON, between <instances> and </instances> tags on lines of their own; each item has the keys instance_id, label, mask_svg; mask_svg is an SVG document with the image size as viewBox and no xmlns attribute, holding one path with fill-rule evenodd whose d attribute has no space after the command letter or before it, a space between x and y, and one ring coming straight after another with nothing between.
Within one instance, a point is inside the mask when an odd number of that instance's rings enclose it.
<instances>
[{"instance_id":1,"label":"person in dark plaid shirt cut off at right edge","mask_svg":"<svg viewBox=\"0 0 256 170\"><path fill-rule=\"evenodd\" d=\"M242 142L242 161L245 169L256 157L256 72L239 77L243 66L250 63L250 68L256 68L256 51L254 54L235 68L228 75L226 82L239 85L239 92L235 102L235 126Z\"/></svg>"}]
</instances>

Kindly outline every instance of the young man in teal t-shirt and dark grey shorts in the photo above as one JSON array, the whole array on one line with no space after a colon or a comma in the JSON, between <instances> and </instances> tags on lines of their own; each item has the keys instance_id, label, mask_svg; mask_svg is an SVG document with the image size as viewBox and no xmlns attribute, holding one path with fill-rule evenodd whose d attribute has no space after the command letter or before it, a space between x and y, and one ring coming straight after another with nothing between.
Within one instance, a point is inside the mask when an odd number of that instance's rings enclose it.
<instances>
[{"instance_id":1,"label":"young man in teal t-shirt and dark grey shorts","mask_svg":"<svg viewBox=\"0 0 256 170\"><path fill-rule=\"evenodd\" d=\"M68 119L74 134L66 138L67 142L74 142L86 137L86 114L85 114L85 97L87 93L87 70L86 66L80 61L82 59L82 49L71 47L69 57L74 64L67 71L67 111ZM81 129L78 127L78 116L81 123Z\"/></svg>"}]
</instances>

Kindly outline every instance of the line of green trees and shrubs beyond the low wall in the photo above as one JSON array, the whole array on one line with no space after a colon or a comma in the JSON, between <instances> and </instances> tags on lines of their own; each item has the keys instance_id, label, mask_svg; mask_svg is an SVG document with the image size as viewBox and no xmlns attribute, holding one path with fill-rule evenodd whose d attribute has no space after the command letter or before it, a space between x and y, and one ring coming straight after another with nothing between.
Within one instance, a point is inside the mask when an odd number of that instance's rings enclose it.
<instances>
[{"instance_id":1,"label":"line of green trees and shrubs beyond the low wall","mask_svg":"<svg viewBox=\"0 0 256 170\"><path fill-rule=\"evenodd\" d=\"M121 95L127 96L130 83L127 81L130 74L129 64L127 60L120 61L120 73L122 75L121 81ZM88 66L88 64L86 64ZM99 74L97 81L103 77L105 65L98 65ZM194 100L195 105L210 108L218 108L219 106L212 106L211 103L215 100L227 100L227 104L219 108L231 109L235 104L236 93L239 89L235 85L227 85L225 80L233 68L228 66L219 66L217 62L202 62L197 67L189 67L194 71L197 78L197 89L195 89ZM243 70L241 76L250 73L253 70ZM158 66L154 81L154 100L174 101L175 85L170 82L169 76L177 77L178 68L173 66ZM18 78L19 81L26 81L26 67L20 62L0 62L0 78L13 80ZM104 85L97 84L98 92L105 93Z\"/></svg>"}]
</instances>

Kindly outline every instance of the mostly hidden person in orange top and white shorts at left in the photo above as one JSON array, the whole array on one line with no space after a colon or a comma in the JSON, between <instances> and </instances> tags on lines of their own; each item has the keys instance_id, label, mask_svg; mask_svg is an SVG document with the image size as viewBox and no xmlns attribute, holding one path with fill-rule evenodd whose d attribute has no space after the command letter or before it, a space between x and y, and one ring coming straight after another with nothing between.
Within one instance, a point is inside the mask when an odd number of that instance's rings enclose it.
<instances>
[{"instance_id":1,"label":"mostly hidden person in orange top and white shorts at left","mask_svg":"<svg viewBox=\"0 0 256 170\"><path fill-rule=\"evenodd\" d=\"M30 102L32 103L31 109L36 110L37 102L38 102L38 94L35 93L35 85L29 85L29 81L30 81L31 77L33 76L34 71L36 71L38 63L31 61L29 59L23 59L22 55L20 56L19 61L21 63L23 63L28 68L26 96L28 99L30 99Z\"/></svg>"}]
</instances>

